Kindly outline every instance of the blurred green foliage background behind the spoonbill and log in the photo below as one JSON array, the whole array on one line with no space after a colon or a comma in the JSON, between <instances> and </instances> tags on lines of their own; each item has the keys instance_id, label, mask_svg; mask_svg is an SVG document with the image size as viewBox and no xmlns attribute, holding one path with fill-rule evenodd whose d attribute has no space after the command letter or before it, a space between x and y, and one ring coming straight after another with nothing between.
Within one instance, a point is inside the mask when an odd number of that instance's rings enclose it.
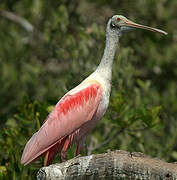
<instances>
[{"instance_id":1,"label":"blurred green foliage background behind the spoonbill and log","mask_svg":"<svg viewBox=\"0 0 177 180\"><path fill-rule=\"evenodd\" d=\"M177 161L176 9L176 0L1 0L0 179L35 179L43 161L21 165L24 146L57 101L95 70L114 14L168 36L137 30L121 37L110 105L83 155L121 149Z\"/></svg>"}]
</instances>

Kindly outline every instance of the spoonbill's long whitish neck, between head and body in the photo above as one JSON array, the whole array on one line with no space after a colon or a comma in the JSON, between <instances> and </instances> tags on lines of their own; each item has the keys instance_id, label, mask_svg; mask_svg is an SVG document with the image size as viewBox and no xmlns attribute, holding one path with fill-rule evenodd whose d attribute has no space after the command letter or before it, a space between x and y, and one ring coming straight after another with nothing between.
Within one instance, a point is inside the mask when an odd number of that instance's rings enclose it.
<instances>
[{"instance_id":1,"label":"spoonbill's long whitish neck, between head and body","mask_svg":"<svg viewBox=\"0 0 177 180\"><path fill-rule=\"evenodd\" d=\"M112 63L114 60L117 44L118 44L118 36L114 34L106 34L106 46L104 49L104 54L101 59L101 62L96 69L103 78L108 81L111 81L112 78Z\"/></svg>"}]
</instances>

